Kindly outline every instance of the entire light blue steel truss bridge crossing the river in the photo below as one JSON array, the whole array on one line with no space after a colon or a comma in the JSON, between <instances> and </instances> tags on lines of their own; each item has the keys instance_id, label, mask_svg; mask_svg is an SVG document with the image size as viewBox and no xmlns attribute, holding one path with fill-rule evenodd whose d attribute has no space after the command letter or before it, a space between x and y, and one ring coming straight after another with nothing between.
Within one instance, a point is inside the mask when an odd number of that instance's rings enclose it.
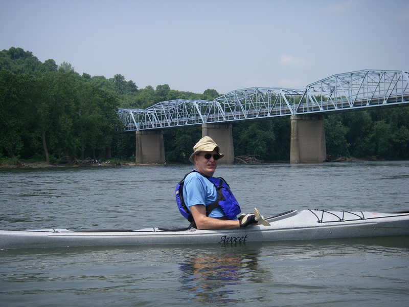
<instances>
[{"instance_id":1,"label":"entire light blue steel truss bridge crossing the river","mask_svg":"<svg viewBox=\"0 0 409 307\"><path fill-rule=\"evenodd\" d=\"M125 131L135 131L406 105L409 72L363 70L333 75L305 90L251 87L213 101L176 99L119 109L119 117Z\"/></svg>"}]
</instances>

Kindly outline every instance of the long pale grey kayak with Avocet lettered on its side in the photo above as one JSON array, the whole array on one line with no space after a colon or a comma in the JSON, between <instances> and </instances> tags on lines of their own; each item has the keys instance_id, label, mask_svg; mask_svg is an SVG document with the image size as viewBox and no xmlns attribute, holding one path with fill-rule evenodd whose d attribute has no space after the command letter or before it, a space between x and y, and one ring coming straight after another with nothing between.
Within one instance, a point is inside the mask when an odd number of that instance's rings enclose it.
<instances>
[{"instance_id":1,"label":"long pale grey kayak with Avocet lettered on its side","mask_svg":"<svg viewBox=\"0 0 409 307\"><path fill-rule=\"evenodd\" d=\"M244 244L280 240L397 235L409 235L409 211L376 213L367 211L292 210L266 217L265 220L261 218L259 225L229 230L197 230L185 227L153 227L139 230L73 231L57 228L0 230L0 249Z\"/></svg>"}]
</instances>

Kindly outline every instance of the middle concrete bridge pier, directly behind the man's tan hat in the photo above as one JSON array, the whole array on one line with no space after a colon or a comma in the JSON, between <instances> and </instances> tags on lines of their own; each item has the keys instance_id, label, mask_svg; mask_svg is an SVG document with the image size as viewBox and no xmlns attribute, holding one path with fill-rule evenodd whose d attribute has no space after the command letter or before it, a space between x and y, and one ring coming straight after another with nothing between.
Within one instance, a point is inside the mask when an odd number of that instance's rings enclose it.
<instances>
[{"instance_id":1,"label":"middle concrete bridge pier, directly behind the man's tan hat","mask_svg":"<svg viewBox=\"0 0 409 307\"><path fill-rule=\"evenodd\" d=\"M203 124L201 127L202 137L211 137L220 146L220 152L224 153L219 164L234 163L232 124Z\"/></svg>"}]
</instances>

